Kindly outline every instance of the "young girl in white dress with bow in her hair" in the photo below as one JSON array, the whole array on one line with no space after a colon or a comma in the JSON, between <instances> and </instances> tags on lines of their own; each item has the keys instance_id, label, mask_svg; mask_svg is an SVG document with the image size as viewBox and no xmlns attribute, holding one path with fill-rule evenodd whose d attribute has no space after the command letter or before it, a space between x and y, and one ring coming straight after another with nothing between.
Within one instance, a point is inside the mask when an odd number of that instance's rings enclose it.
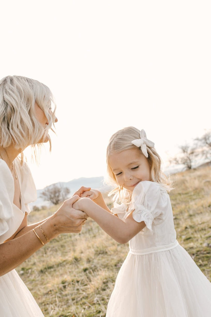
<instances>
[{"instance_id":1,"label":"young girl in white dress with bow in her hair","mask_svg":"<svg viewBox=\"0 0 211 317\"><path fill-rule=\"evenodd\" d=\"M124 128L109 141L107 166L122 204L114 204L112 214L102 194L91 190L73 205L117 242L129 241L106 316L211 316L211 283L176 240L171 187L154 143L144 130Z\"/></svg>"}]
</instances>

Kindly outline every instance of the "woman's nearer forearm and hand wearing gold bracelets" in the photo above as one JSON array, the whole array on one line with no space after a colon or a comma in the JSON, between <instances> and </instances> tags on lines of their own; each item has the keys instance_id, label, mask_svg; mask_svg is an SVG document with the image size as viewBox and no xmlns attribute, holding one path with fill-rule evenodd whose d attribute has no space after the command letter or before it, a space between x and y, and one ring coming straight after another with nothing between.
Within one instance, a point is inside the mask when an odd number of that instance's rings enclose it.
<instances>
[{"instance_id":1,"label":"woman's nearer forearm and hand wearing gold bracelets","mask_svg":"<svg viewBox=\"0 0 211 317\"><path fill-rule=\"evenodd\" d=\"M60 233L80 232L84 221L84 213L72 208L72 204L77 199L78 196L74 196L66 200L55 214L41 222L41 228L39 226L35 227L34 231L38 236L33 230L23 233L24 228L26 228L25 230L29 229L25 226L21 230L23 234L20 233L20 236L0 244L0 275L16 268L40 249L43 243L46 244L47 240L52 240Z\"/></svg>"}]
</instances>

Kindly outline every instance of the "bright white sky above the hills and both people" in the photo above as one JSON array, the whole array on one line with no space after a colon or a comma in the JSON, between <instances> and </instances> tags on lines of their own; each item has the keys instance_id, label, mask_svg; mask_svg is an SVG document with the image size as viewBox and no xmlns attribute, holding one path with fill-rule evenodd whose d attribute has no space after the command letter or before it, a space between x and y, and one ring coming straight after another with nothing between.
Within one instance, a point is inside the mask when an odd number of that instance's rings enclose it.
<instances>
[{"instance_id":1,"label":"bright white sky above the hills and both people","mask_svg":"<svg viewBox=\"0 0 211 317\"><path fill-rule=\"evenodd\" d=\"M57 136L37 188L105 174L110 136L144 128L164 163L210 129L210 1L4 1L0 77L45 83ZM48 149L48 147L47 147Z\"/></svg>"}]
</instances>

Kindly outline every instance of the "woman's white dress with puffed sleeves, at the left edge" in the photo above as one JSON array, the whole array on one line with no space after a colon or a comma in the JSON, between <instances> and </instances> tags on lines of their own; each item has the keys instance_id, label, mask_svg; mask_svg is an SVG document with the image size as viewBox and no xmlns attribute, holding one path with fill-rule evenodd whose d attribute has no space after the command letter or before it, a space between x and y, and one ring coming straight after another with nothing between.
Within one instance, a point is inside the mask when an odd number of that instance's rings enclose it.
<instances>
[{"instance_id":1,"label":"woman's white dress with puffed sleeves, at the left edge","mask_svg":"<svg viewBox=\"0 0 211 317\"><path fill-rule=\"evenodd\" d=\"M36 200L36 188L28 166L15 160L16 174L21 189L21 210L13 204L14 180L7 164L0 159L0 243L19 228L28 203ZM0 276L1 317L44 317L34 297L16 270Z\"/></svg>"}]
</instances>

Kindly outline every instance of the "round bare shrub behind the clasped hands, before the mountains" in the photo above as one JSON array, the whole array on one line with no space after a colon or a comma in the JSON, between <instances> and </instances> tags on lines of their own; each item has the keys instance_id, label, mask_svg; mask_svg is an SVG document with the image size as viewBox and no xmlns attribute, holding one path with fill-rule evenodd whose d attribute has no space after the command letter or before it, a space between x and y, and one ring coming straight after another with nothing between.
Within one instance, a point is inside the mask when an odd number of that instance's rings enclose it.
<instances>
[{"instance_id":1,"label":"round bare shrub behind the clasped hands, before the mountains","mask_svg":"<svg viewBox=\"0 0 211 317\"><path fill-rule=\"evenodd\" d=\"M57 205L67 199L69 193L70 190L68 187L53 184L46 187L44 191L41 192L40 197L50 201L54 205Z\"/></svg>"}]
</instances>

